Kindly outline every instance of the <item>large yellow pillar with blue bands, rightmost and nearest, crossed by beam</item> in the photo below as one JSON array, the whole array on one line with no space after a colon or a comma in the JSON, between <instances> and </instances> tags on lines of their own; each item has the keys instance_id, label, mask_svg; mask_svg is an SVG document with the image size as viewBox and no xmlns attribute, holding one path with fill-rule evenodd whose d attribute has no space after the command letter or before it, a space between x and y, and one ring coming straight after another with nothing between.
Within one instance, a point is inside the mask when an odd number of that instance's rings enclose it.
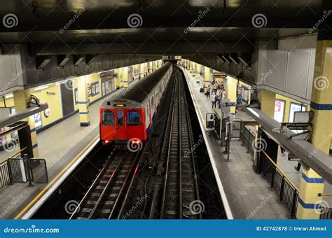
<instances>
[{"instance_id":1,"label":"large yellow pillar with blue bands, rightmost and nearest, crossed by beam","mask_svg":"<svg viewBox=\"0 0 332 238\"><path fill-rule=\"evenodd\" d=\"M312 144L328 155L332 134L332 40L317 41L312 85ZM314 152L313 152L314 153ZM319 204L324 197L324 179L313 169L303 168L298 199L298 219L319 219Z\"/></svg>"}]
</instances>

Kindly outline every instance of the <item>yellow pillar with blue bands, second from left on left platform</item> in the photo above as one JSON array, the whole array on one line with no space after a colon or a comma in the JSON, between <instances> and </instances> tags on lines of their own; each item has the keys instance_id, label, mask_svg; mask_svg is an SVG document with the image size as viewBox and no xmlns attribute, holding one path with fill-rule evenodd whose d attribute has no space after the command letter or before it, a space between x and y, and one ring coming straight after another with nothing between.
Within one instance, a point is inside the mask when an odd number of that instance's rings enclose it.
<instances>
[{"instance_id":1,"label":"yellow pillar with blue bands, second from left on left platform","mask_svg":"<svg viewBox=\"0 0 332 238\"><path fill-rule=\"evenodd\" d=\"M89 85L86 83L85 76L77 78L78 84L78 111L80 115L81 127L88 127L90 125L89 114L89 92L91 92Z\"/></svg>"}]
</instances>

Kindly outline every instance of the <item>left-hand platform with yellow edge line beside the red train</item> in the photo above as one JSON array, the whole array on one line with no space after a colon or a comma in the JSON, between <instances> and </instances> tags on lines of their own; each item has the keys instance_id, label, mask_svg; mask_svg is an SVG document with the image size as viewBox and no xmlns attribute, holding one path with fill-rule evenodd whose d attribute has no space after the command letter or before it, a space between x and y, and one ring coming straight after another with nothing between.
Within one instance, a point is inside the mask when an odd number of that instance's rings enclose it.
<instances>
[{"instance_id":1,"label":"left-hand platform with yellow edge line beside the red train","mask_svg":"<svg viewBox=\"0 0 332 238\"><path fill-rule=\"evenodd\" d=\"M37 134L39 156L46 160L48 184L14 183L0 190L0 219L24 218L26 211L32 208L39 199L50 193L70 174L99 141L99 107L102 102L123 89L111 92L108 96L89 106L90 126L81 127L79 114L63 120L53 127ZM10 154L0 152L1 160Z\"/></svg>"}]
</instances>

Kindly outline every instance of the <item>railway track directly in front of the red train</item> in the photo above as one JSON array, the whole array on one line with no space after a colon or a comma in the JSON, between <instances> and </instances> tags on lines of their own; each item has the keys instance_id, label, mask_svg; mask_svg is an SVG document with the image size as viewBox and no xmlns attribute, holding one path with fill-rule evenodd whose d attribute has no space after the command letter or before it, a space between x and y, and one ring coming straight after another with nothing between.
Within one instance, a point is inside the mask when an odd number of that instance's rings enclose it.
<instances>
[{"instance_id":1,"label":"railway track directly in front of the red train","mask_svg":"<svg viewBox=\"0 0 332 238\"><path fill-rule=\"evenodd\" d=\"M139 151L112 151L69 219L120 218L130 193Z\"/></svg>"}]
</instances>

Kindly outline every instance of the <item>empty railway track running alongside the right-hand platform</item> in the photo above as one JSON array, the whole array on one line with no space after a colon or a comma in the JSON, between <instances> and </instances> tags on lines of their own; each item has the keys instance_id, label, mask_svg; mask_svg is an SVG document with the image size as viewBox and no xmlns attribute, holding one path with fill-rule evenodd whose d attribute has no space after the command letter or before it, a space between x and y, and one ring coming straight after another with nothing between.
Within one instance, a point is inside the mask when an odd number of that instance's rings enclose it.
<instances>
[{"instance_id":1,"label":"empty railway track running alongside the right-hand platform","mask_svg":"<svg viewBox=\"0 0 332 238\"><path fill-rule=\"evenodd\" d=\"M162 189L160 218L199 219L202 214L193 208L200 201L195 169L193 134L184 91L178 71L174 83L172 112L169 113L162 158L165 160L165 179Z\"/></svg>"}]
</instances>

